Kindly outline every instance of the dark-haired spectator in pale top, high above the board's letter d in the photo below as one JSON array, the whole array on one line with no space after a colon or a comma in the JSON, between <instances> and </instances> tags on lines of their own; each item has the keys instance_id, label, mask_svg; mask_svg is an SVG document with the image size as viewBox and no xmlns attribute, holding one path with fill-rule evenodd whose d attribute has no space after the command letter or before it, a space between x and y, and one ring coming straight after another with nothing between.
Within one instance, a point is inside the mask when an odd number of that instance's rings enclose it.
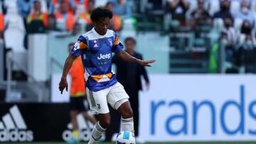
<instances>
[{"instance_id":1,"label":"dark-haired spectator in pale top, high above the board's letter d","mask_svg":"<svg viewBox=\"0 0 256 144\"><path fill-rule=\"evenodd\" d=\"M239 34L238 31L235 30L233 19L230 17L224 18L224 27L223 33L227 35L226 40L228 45L235 45L238 43Z\"/></svg>"}]
</instances>

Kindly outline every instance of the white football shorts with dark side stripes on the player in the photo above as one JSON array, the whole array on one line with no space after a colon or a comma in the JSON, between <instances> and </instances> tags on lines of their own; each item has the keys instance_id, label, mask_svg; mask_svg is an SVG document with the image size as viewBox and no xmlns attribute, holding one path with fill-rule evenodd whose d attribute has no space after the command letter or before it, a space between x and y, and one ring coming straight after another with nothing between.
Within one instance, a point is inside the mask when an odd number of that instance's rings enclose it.
<instances>
[{"instance_id":1,"label":"white football shorts with dark side stripes on the player","mask_svg":"<svg viewBox=\"0 0 256 144\"><path fill-rule=\"evenodd\" d=\"M119 106L129 99L124 87L119 82L97 92L93 92L86 87L86 94L90 109L97 114L110 113L107 103L110 104L113 109L118 109Z\"/></svg>"}]
</instances>

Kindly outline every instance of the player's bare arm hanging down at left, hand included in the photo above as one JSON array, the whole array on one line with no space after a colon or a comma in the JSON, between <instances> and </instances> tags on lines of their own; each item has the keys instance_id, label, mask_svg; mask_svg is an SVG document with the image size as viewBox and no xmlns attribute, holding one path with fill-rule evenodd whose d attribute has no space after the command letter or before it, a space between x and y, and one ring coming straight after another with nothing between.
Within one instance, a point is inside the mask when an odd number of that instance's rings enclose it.
<instances>
[{"instance_id":1,"label":"player's bare arm hanging down at left, hand included","mask_svg":"<svg viewBox=\"0 0 256 144\"><path fill-rule=\"evenodd\" d=\"M65 65L64 65L64 68L63 68L63 74L62 74L62 77L61 77L60 83L59 83L59 90L60 90L61 94L63 94L64 89L66 89L66 91L68 92L67 75L68 75L68 71L72 67L72 64L73 64L76 57L77 56L70 54L70 55L68 55L67 59L65 60Z\"/></svg>"}]
</instances>

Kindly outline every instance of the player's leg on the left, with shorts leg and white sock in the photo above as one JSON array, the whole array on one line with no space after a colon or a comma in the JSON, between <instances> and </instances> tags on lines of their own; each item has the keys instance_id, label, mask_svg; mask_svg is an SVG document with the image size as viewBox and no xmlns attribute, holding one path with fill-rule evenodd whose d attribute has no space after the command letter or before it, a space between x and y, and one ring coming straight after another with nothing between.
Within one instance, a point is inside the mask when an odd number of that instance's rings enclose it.
<instances>
[{"instance_id":1,"label":"player's leg on the left, with shorts leg and white sock","mask_svg":"<svg viewBox=\"0 0 256 144\"><path fill-rule=\"evenodd\" d=\"M86 89L90 109L95 111L99 118L99 121L95 123L95 126L92 129L92 136L88 144L92 144L100 140L102 134L105 133L107 126L110 125L110 110L107 106L108 92L108 89L102 89L98 92L92 92L89 89Z\"/></svg>"}]
</instances>

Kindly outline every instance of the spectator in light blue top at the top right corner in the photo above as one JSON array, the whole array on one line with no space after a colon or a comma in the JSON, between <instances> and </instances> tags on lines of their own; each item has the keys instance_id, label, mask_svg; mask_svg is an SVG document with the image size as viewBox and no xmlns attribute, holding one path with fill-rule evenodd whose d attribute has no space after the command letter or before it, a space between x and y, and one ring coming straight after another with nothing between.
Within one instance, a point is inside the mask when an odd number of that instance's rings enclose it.
<instances>
[{"instance_id":1,"label":"spectator in light blue top at the top right corner","mask_svg":"<svg viewBox=\"0 0 256 144\"><path fill-rule=\"evenodd\" d=\"M249 21L251 26L255 23L255 13L250 10L250 5L246 0L240 4L240 11L234 13L235 18L240 18L242 21Z\"/></svg>"}]
</instances>

